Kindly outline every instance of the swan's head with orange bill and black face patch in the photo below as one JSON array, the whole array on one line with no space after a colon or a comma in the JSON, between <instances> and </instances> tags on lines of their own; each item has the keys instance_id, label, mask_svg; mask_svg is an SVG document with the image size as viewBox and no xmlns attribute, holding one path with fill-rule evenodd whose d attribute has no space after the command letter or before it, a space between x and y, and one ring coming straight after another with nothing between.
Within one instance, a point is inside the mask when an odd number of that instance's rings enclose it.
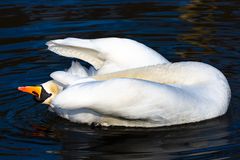
<instances>
[{"instance_id":1,"label":"swan's head with orange bill and black face patch","mask_svg":"<svg viewBox=\"0 0 240 160\"><path fill-rule=\"evenodd\" d=\"M34 99L42 104L50 105L61 88L54 81L48 81L41 85L18 87L18 90L32 94Z\"/></svg>"}]
</instances>

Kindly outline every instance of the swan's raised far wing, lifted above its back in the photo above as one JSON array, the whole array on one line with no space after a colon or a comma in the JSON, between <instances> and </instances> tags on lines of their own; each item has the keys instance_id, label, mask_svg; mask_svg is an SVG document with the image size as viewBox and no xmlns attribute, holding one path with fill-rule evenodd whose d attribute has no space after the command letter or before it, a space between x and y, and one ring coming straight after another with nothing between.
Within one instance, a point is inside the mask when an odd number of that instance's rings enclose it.
<instances>
[{"instance_id":1,"label":"swan's raised far wing, lifted above its back","mask_svg":"<svg viewBox=\"0 0 240 160\"><path fill-rule=\"evenodd\" d=\"M168 63L153 49L124 38L66 38L51 40L47 45L49 50L61 56L90 63L98 70L98 74Z\"/></svg>"}]
</instances>

